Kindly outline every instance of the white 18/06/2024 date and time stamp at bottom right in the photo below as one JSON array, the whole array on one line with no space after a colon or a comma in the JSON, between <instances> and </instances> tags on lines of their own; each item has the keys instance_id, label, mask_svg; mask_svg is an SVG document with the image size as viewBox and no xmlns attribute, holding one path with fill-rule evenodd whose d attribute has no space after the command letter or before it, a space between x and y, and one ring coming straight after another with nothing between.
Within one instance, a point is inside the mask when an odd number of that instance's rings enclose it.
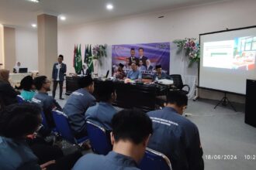
<instances>
[{"instance_id":1,"label":"white 18/06/2024 date and time stamp at bottom right","mask_svg":"<svg viewBox=\"0 0 256 170\"><path fill-rule=\"evenodd\" d=\"M237 160L237 159L244 159L244 160L251 160L256 161L256 155L244 155L244 156L237 156L237 155L205 155L206 160Z\"/></svg>"}]
</instances>

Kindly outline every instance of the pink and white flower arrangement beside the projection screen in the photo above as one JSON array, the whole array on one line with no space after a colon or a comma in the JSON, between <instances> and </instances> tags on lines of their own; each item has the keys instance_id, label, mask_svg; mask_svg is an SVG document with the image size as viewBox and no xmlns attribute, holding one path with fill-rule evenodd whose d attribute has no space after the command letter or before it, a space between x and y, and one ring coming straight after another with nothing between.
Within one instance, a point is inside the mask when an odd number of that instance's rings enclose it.
<instances>
[{"instance_id":1,"label":"pink and white flower arrangement beside the projection screen","mask_svg":"<svg viewBox=\"0 0 256 170\"><path fill-rule=\"evenodd\" d=\"M195 38L176 39L174 43L178 46L177 53L181 53L185 49L185 56L189 57L189 66L198 63L200 60L200 46Z\"/></svg>"}]
</instances>

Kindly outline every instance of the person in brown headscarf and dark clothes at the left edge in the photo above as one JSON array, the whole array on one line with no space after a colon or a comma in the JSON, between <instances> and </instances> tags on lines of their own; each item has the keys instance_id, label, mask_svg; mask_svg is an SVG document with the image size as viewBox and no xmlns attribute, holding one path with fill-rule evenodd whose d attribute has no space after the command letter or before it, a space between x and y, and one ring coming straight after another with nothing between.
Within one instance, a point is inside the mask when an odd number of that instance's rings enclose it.
<instances>
[{"instance_id":1,"label":"person in brown headscarf and dark clothes at the left edge","mask_svg":"<svg viewBox=\"0 0 256 170\"><path fill-rule=\"evenodd\" d=\"M0 97L2 108L17 103L17 93L9 83L9 70L0 70Z\"/></svg>"}]
</instances>

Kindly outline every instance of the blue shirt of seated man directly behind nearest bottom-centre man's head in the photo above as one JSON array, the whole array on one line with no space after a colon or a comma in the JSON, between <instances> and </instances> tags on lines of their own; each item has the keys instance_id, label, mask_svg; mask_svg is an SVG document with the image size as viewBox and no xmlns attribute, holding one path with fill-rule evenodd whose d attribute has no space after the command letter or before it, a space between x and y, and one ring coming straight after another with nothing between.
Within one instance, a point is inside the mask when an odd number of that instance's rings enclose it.
<instances>
[{"instance_id":1,"label":"blue shirt of seated man directly behind nearest bottom-centre man's head","mask_svg":"<svg viewBox=\"0 0 256 170\"><path fill-rule=\"evenodd\" d=\"M117 110L112 104L106 102L99 102L96 106L89 107L85 112L85 120L92 121L102 128L111 131L111 120Z\"/></svg>"}]
</instances>

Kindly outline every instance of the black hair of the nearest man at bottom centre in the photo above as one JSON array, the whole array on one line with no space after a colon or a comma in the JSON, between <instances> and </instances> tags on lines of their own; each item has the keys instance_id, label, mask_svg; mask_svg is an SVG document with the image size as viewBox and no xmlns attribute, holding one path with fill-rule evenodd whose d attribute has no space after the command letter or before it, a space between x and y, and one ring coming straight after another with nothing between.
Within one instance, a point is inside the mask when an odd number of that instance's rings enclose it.
<instances>
[{"instance_id":1,"label":"black hair of the nearest man at bottom centre","mask_svg":"<svg viewBox=\"0 0 256 170\"><path fill-rule=\"evenodd\" d=\"M153 133L152 121L137 109L121 110L112 118L115 141L129 140L138 145Z\"/></svg>"}]
</instances>

